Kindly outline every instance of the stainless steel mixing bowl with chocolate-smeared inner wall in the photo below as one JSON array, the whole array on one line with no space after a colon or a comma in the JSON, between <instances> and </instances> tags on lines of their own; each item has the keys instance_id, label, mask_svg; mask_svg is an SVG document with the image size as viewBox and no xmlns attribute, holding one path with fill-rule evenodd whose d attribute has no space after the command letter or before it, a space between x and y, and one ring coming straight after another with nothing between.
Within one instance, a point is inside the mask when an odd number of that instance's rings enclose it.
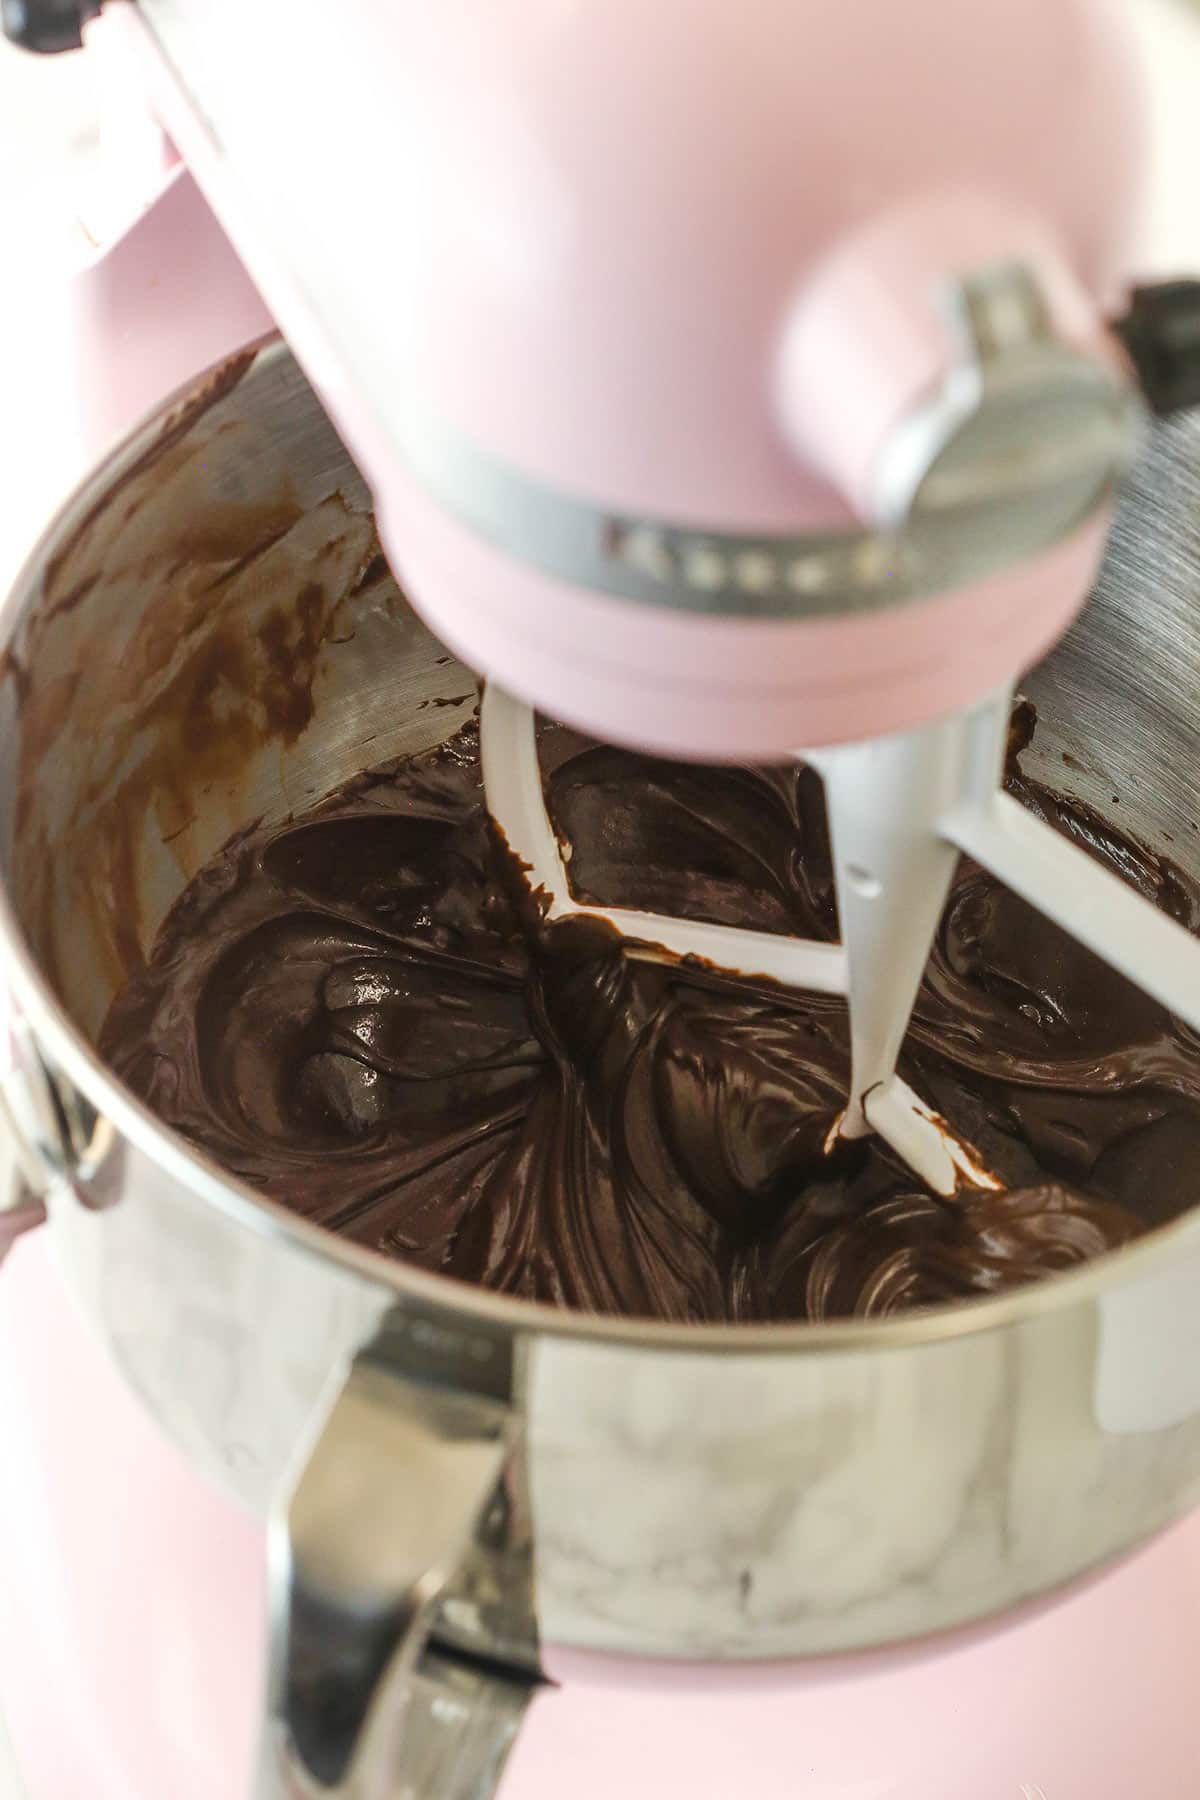
<instances>
[{"instance_id":1,"label":"stainless steel mixing bowl with chocolate-smeared inner wall","mask_svg":"<svg viewBox=\"0 0 1200 1800\"><path fill-rule=\"evenodd\" d=\"M1159 428L1097 596L1027 682L1034 772L1119 796L1193 873L1198 500L1200 428ZM324 1768L320 1791L365 1793L385 1712L331 1744L300 1651L358 1719L396 1678L380 1645L403 1661L430 1622L516 1670L540 1642L883 1645L1045 1593L1200 1499L1200 1215L885 1323L599 1321L306 1228L113 1082L108 1001L230 832L470 715L468 671L390 578L362 583L371 554L367 491L270 344L106 459L0 617L11 1109L126 1379L198 1467L275 1507L270 1755L295 1791Z\"/></svg>"}]
</instances>

